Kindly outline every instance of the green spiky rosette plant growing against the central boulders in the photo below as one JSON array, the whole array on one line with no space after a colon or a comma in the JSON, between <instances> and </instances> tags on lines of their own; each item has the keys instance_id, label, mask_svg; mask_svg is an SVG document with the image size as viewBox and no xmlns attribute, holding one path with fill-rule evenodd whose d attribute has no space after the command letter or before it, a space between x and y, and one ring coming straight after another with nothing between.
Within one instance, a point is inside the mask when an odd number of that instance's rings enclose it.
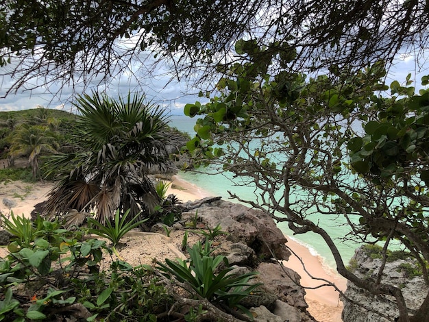
<instances>
[{"instance_id":1,"label":"green spiky rosette plant growing against the central boulders","mask_svg":"<svg viewBox=\"0 0 429 322\"><path fill-rule=\"evenodd\" d=\"M230 308L238 308L252 317L249 310L240 304L245 297L252 295L260 283L250 284L249 280L256 277L257 272L231 274L232 267L225 256L210 256L210 240L206 245L201 243L188 249L190 259L177 262L166 259L166 264L158 263L158 269L167 277L175 277L179 282L186 282L197 295L214 303L223 303ZM220 264L225 268L216 272Z\"/></svg>"}]
</instances>

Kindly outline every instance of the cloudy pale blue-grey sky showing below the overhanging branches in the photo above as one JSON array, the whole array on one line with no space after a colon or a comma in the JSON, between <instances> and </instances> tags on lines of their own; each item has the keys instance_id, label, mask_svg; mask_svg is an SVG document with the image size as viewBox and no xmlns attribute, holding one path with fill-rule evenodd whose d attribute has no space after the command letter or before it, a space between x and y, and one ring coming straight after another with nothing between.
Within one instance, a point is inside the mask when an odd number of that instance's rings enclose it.
<instances>
[{"instance_id":1,"label":"cloudy pale blue-grey sky showing below the overhanging branches","mask_svg":"<svg viewBox=\"0 0 429 322\"><path fill-rule=\"evenodd\" d=\"M415 79L415 85L420 88L421 76L429 74L429 71L426 69L426 71L417 71L416 73L416 70L414 60L404 60L392 67L386 82L390 84L393 80L397 80L402 83L405 81L406 75L411 73L412 79ZM152 75L149 77L147 77L148 73L149 71L145 72L141 66L134 75L123 73L121 77L112 80L106 92L111 97L117 97L119 94L125 96L128 91L145 92L148 100L163 106L172 115L182 115L186 103L195 103L199 100L196 94L197 90L186 86L186 82L169 82L171 77L165 66L159 66L158 70L155 71L156 74L151 71ZM0 78L0 82L0 97L2 97L10 85L10 79ZM104 89L106 86L99 86L99 91ZM79 86L77 86L76 92L82 94L79 92ZM90 92L90 90L86 92ZM32 92L19 90L16 94L10 94L8 97L0 99L0 111L27 110L43 106L74 112L70 102L71 97L72 90L68 86L63 86L61 90L60 86L51 86L49 90L41 87L32 90Z\"/></svg>"}]
</instances>

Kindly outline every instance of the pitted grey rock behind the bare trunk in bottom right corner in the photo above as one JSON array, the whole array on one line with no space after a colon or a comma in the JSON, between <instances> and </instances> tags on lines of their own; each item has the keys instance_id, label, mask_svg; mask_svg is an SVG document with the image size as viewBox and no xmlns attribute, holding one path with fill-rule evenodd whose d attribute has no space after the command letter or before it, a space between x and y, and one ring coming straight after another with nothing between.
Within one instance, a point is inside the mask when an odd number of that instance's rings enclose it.
<instances>
[{"instance_id":1,"label":"pitted grey rock behind the bare trunk in bottom right corner","mask_svg":"<svg viewBox=\"0 0 429 322\"><path fill-rule=\"evenodd\" d=\"M350 261L351 269L361 278L376 278L381 259L371 258L365 248L360 247ZM428 294L429 288L422 276L411 277L404 267L413 267L410 258L387 262L382 275L382 282L401 288L410 314L413 314ZM343 299L343 322L388 322L399 317L395 298L388 295L375 296L348 282L345 296L363 304L363 307Z\"/></svg>"}]
</instances>

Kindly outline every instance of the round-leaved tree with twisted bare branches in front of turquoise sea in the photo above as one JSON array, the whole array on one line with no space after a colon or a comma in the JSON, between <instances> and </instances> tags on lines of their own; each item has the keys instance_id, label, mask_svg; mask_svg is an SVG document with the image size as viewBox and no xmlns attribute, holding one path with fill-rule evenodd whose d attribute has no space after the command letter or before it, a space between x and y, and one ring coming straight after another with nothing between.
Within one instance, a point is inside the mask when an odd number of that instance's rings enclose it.
<instances>
[{"instance_id":1,"label":"round-leaved tree with twisted bare branches in front of turquoise sea","mask_svg":"<svg viewBox=\"0 0 429 322\"><path fill-rule=\"evenodd\" d=\"M384 253L397 240L429 284L429 90L415 94L410 75L385 85L383 62L356 73L270 75L271 58L284 51L257 44L237 42L243 63L229 66L218 94L185 106L188 116L201 116L186 149L258 188L256 199L232 197L286 221L295 234L319 234L343 277L396 298L400 321L429 321L429 295L408 317L400 288L381 280L384 265L375 280L357 277L318 220L341 216L350 229L345 239L381 243Z\"/></svg>"}]
</instances>

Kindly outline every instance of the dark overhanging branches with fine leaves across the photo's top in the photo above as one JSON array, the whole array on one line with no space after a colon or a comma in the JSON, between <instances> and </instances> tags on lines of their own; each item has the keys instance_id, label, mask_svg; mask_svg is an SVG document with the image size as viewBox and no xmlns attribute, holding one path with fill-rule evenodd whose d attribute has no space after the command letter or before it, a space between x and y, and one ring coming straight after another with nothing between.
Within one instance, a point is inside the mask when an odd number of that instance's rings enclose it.
<instances>
[{"instance_id":1,"label":"dark overhanging branches with fine leaves across the photo's top","mask_svg":"<svg viewBox=\"0 0 429 322\"><path fill-rule=\"evenodd\" d=\"M395 54L422 57L427 1L371 0L5 0L0 4L0 66L12 77L5 95L62 82L110 79L130 64L167 59L175 75L207 77L232 59L241 37L286 42L291 68L336 64L356 70ZM138 78L138 77L136 77Z\"/></svg>"}]
</instances>

